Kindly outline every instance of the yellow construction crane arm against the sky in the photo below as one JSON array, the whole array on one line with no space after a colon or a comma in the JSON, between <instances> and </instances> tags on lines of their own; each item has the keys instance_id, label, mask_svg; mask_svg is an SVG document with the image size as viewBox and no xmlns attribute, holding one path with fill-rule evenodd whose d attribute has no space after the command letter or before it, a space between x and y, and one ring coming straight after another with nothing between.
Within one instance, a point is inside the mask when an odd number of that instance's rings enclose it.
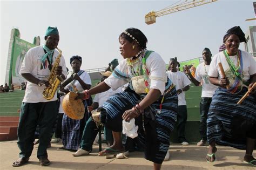
<instances>
[{"instance_id":1,"label":"yellow construction crane arm against the sky","mask_svg":"<svg viewBox=\"0 0 256 170\"><path fill-rule=\"evenodd\" d=\"M168 15L173 12L182 11L185 9L190 9L196 6L208 4L211 2L216 2L217 0L193 0L193 1L179 1L171 6L166 7L165 9L159 10L159 11L151 11L145 15L145 23L146 24L153 24L156 22L156 17Z\"/></svg>"}]
</instances>

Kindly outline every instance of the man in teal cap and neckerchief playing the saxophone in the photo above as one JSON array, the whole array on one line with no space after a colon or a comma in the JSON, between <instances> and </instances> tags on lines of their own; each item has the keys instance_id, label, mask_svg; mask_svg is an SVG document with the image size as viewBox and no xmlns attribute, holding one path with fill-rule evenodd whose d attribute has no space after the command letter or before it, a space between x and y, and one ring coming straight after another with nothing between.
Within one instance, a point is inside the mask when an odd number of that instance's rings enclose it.
<instances>
[{"instance_id":1,"label":"man in teal cap and neckerchief playing the saxophone","mask_svg":"<svg viewBox=\"0 0 256 170\"><path fill-rule=\"evenodd\" d=\"M45 33L45 44L30 49L23 60L21 70L22 77L28 80L25 96L21 105L21 113L18 125L18 147L21 150L19 159L12 166L22 166L28 163L33 150L33 140L36 126L39 125L39 146L37 158L41 166L50 164L46 148L51 140L53 123L56 121L58 104L57 95L47 100L43 96L46 87L52 86L51 68L56 65L55 60L59 59L59 65L55 67L56 76L65 78L66 65L62 55L56 47L59 43L59 32L57 28L49 28ZM51 76L52 77L52 76Z\"/></svg>"}]
</instances>

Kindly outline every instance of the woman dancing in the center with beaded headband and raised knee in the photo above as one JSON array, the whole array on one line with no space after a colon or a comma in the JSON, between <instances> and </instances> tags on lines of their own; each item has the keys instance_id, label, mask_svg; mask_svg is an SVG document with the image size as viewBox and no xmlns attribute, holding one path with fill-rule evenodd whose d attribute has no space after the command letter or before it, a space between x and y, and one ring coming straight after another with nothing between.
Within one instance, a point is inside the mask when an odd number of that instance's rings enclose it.
<instances>
[{"instance_id":1,"label":"woman dancing in the center with beaded headband and raised knee","mask_svg":"<svg viewBox=\"0 0 256 170\"><path fill-rule=\"evenodd\" d=\"M135 118L139 140L145 145L145 158L160 169L169 149L169 138L177 118L178 96L165 72L165 62L158 53L146 50L147 38L142 31L129 28L119 36L124 60L112 75L78 98L104 92L130 82L121 93L111 96L103 105L101 117L112 130L114 142L100 156L125 152L122 145L122 120Z\"/></svg>"}]
</instances>

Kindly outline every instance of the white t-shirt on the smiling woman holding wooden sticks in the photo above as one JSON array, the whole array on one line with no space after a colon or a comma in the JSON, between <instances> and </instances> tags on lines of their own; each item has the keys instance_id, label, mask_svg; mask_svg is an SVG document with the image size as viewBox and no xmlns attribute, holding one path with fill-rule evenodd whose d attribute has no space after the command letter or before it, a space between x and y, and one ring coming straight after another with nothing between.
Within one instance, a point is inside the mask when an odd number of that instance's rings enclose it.
<instances>
[{"instance_id":1,"label":"white t-shirt on the smiling woman holding wooden sticks","mask_svg":"<svg viewBox=\"0 0 256 170\"><path fill-rule=\"evenodd\" d=\"M242 56L242 79L247 81L250 79L250 75L256 73L256 63L253 57L250 55L250 53L246 51L241 51L241 56ZM230 59L232 60L234 65L237 66L237 55L230 56ZM223 51L217 53L217 55L215 55L212 58L208 76L218 77L218 79L220 79L221 72L220 72L218 63L221 63L223 65L223 69L225 71L226 77L229 78L230 86L232 86L234 83L234 80L233 80L234 74L230 70L230 66L227 63L227 60Z\"/></svg>"}]
</instances>

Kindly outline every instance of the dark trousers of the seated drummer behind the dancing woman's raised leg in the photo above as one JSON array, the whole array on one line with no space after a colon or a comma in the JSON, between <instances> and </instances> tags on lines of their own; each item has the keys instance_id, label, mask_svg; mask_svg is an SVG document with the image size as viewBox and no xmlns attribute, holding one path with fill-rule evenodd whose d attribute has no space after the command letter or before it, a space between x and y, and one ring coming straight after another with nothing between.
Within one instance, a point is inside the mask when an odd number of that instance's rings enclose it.
<instances>
[{"instance_id":1,"label":"dark trousers of the seated drummer behind the dancing woman's raised leg","mask_svg":"<svg viewBox=\"0 0 256 170\"><path fill-rule=\"evenodd\" d=\"M83 137L82 141L80 143L80 147L84 149L85 151L90 152L92 150L93 141L95 140L99 130L95 124L95 121L92 120L92 117L90 117L86 121L86 125L84 127ZM113 136L112 131L104 127L104 134L107 142L111 143L113 142Z\"/></svg>"}]
</instances>

